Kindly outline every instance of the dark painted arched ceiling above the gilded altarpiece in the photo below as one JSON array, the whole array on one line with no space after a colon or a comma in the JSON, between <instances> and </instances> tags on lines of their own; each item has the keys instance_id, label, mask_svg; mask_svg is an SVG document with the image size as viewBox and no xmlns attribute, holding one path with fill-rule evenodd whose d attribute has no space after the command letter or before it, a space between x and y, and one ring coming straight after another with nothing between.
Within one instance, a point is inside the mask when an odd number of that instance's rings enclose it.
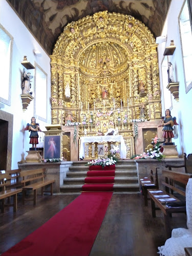
<instances>
[{"instance_id":1,"label":"dark painted arched ceiling above the gilded altarpiece","mask_svg":"<svg viewBox=\"0 0 192 256\"><path fill-rule=\"evenodd\" d=\"M7 0L41 46L52 54L63 28L99 11L132 15L161 35L171 0Z\"/></svg>"}]
</instances>

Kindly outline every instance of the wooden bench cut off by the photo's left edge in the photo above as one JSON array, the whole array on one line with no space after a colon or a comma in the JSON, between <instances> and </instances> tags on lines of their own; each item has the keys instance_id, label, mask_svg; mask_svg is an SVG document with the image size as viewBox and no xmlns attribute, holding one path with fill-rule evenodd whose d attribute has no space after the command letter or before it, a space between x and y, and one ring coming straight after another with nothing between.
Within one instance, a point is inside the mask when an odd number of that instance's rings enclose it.
<instances>
[{"instance_id":1,"label":"wooden bench cut off by the photo's left edge","mask_svg":"<svg viewBox=\"0 0 192 256\"><path fill-rule=\"evenodd\" d=\"M1 210L5 212L5 206L13 206L13 211L17 211L17 194L22 192L22 188L10 188L11 176L9 174L0 174L0 201ZM13 196L13 203L10 203L10 197ZM6 199L8 203L6 204Z\"/></svg>"}]
</instances>

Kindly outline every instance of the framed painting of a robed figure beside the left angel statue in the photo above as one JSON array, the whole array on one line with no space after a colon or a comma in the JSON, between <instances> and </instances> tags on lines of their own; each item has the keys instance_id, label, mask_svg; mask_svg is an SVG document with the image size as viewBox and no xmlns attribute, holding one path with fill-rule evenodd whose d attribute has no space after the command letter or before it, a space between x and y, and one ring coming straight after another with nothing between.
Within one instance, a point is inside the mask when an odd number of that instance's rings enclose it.
<instances>
[{"instance_id":1,"label":"framed painting of a robed figure beside the left angel statue","mask_svg":"<svg viewBox=\"0 0 192 256\"><path fill-rule=\"evenodd\" d=\"M44 139L44 159L61 158L61 136L47 135Z\"/></svg>"}]
</instances>

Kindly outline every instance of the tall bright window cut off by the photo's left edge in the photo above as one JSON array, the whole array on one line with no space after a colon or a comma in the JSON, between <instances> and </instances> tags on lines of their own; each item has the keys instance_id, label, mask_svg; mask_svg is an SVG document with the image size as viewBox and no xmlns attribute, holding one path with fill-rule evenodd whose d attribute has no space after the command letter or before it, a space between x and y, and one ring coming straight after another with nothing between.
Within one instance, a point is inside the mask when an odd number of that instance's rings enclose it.
<instances>
[{"instance_id":1,"label":"tall bright window cut off by the photo's left edge","mask_svg":"<svg viewBox=\"0 0 192 256\"><path fill-rule=\"evenodd\" d=\"M0 24L0 101L11 105L11 66L13 37Z\"/></svg>"}]
</instances>

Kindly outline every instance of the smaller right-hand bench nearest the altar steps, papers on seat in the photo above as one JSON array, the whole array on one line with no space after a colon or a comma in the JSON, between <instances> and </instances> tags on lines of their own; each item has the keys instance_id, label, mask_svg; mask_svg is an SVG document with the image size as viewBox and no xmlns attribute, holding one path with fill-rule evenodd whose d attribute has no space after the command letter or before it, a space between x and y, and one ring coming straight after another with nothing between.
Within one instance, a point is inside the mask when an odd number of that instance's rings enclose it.
<instances>
[{"instance_id":1,"label":"smaller right-hand bench nearest the altar steps, papers on seat","mask_svg":"<svg viewBox=\"0 0 192 256\"><path fill-rule=\"evenodd\" d=\"M155 172L154 172L153 169L151 169L150 177L144 177L143 179L140 179L142 195L144 197L145 206L148 205L148 200L150 200L150 198L147 197L147 189L149 189L149 188L159 188L157 169L158 169L158 167L156 167Z\"/></svg>"}]
</instances>

